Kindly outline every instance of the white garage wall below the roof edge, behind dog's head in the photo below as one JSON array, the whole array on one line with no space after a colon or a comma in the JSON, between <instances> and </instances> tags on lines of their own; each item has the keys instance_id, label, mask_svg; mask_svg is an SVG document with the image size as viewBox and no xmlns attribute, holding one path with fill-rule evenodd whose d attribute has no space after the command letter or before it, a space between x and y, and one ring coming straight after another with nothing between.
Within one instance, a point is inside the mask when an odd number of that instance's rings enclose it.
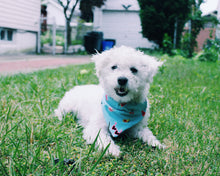
<instances>
[{"instance_id":1,"label":"white garage wall below the roof edge, behind dog's head","mask_svg":"<svg viewBox=\"0 0 220 176\"><path fill-rule=\"evenodd\" d=\"M116 46L151 47L141 34L141 23L138 11L105 11L103 10L102 26L104 38L116 39Z\"/></svg>"}]
</instances>

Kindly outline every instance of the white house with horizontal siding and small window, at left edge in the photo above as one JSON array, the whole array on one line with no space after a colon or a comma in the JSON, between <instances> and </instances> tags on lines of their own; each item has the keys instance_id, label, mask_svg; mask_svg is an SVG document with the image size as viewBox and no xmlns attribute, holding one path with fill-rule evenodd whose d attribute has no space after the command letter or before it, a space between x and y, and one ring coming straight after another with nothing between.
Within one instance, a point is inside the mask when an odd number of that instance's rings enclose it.
<instances>
[{"instance_id":1,"label":"white house with horizontal siding and small window, at left edge","mask_svg":"<svg viewBox=\"0 0 220 176\"><path fill-rule=\"evenodd\" d=\"M0 0L0 54L35 52L41 0Z\"/></svg>"}]
</instances>

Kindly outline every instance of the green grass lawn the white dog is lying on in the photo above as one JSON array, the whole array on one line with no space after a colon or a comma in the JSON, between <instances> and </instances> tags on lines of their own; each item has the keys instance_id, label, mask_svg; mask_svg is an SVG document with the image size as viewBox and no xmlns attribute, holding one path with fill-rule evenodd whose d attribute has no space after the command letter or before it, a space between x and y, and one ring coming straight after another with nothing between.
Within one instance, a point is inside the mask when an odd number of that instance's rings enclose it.
<instances>
[{"instance_id":1,"label":"green grass lawn the white dog is lying on","mask_svg":"<svg viewBox=\"0 0 220 176\"><path fill-rule=\"evenodd\" d=\"M220 64L162 58L149 128L168 148L125 136L120 158L86 145L71 114L53 115L67 90L98 82L93 64L0 77L0 175L219 175Z\"/></svg>"}]
</instances>

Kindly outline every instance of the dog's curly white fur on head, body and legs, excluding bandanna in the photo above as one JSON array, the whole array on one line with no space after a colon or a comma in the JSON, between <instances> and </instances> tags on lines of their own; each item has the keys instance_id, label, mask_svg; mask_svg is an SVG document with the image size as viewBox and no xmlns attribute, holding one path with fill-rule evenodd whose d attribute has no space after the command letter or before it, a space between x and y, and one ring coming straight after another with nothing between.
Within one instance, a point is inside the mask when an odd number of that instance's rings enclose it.
<instances>
[{"instance_id":1,"label":"dog's curly white fur on head, body and legs, excluding bandanna","mask_svg":"<svg viewBox=\"0 0 220 176\"><path fill-rule=\"evenodd\" d=\"M126 46L94 55L92 60L95 62L100 85L76 86L66 92L55 114L62 120L68 112L77 113L79 123L84 127L83 138L86 142L93 143L100 131L96 143L98 148L101 150L111 143L108 153L119 156L120 148L114 143L103 117L101 99L107 94L120 103L145 101L153 76L163 63ZM120 78L127 81L121 85ZM127 131L132 137L140 138L148 145L164 148L147 127L149 116L148 102L143 120Z\"/></svg>"}]
</instances>

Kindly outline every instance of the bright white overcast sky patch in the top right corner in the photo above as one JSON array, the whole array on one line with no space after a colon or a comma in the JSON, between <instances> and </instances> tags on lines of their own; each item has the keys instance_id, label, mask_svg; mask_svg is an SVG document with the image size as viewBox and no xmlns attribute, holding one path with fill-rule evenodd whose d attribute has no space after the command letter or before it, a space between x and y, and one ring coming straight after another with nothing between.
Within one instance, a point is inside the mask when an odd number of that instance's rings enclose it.
<instances>
[{"instance_id":1,"label":"bright white overcast sky patch in the top right corner","mask_svg":"<svg viewBox=\"0 0 220 176\"><path fill-rule=\"evenodd\" d=\"M201 4L200 8L202 10L202 14L206 15L209 12L217 10L217 6L220 0L204 0L205 3Z\"/></svg>"}]
</instances>

